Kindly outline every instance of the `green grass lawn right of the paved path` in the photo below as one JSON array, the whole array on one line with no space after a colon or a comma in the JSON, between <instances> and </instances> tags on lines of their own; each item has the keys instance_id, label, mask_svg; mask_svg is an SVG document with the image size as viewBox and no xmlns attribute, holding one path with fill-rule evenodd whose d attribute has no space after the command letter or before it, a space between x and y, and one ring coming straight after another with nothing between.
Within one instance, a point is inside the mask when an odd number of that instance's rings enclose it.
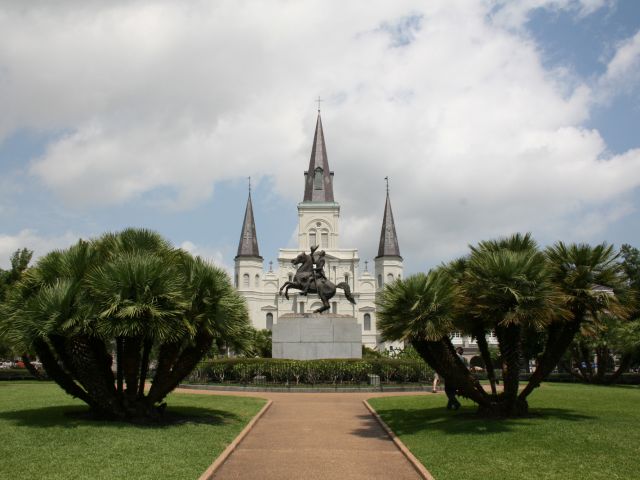
<instances>
[{"instance_id":1,"label":"green grass lawn right of the paved path","mask_svg":"<svg viewBox=\"0 0 640 480\"><path fill-rule=\"evenodd\" d=\"M444 395L369 403L437 480L640 478L640 389L544 384L531 418L486 420Z\"/></svg>"}]
</instances>

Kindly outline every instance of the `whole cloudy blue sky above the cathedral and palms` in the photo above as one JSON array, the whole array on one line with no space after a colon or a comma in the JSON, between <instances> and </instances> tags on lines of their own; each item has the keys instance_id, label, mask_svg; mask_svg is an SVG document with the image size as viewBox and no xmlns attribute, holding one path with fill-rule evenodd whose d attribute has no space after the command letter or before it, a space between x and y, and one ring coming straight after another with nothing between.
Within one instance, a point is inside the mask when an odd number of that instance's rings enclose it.
<instances>
[{"instance_id":1,"label":"whole cloudy blue sky above the cathedral and palms","mask_svg":"<svg viewBox=\"0 0 640 480\"><path fill-rule=\"evenodd\" d=\"M341 246L409 273L531 231L638 246L640 3L47 2L0 16L0 267L153 228L293 246L321 95Z\"/></svg>"}]
</instances>

